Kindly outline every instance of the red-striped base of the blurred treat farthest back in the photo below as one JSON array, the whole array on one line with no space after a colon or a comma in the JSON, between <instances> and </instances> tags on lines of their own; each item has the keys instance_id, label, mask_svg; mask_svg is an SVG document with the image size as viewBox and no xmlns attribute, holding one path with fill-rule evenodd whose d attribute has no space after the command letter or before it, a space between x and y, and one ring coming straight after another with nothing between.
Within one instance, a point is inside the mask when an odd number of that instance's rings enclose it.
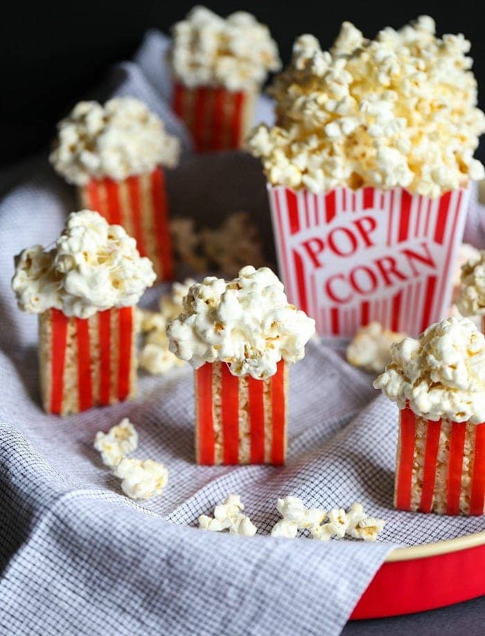
<instances>
[{"instance_id":1,"label":"red-striped base of the blurred treat farthest back","mask_svg":"<svg viewBox=\"0 0 485 636\"><path fill-rule=\"evenodd\" d=\"M240 148L252 125L256 95L223 87L173 89L173 109L191 132L195 151Z\"/></svg>"}]
</instances>

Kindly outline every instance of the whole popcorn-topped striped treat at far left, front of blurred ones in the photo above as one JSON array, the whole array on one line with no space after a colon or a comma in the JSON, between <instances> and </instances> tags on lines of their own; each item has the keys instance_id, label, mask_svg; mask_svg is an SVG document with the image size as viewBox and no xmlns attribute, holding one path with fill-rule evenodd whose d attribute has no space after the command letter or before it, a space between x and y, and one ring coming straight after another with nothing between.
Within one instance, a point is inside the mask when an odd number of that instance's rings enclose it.
<instances>
[{"instance_id":1,"label":"whole popcorn-topped striped treat at far left, front of blurred ones","mask_svg":"<svg viewBox=\"0 0 485 636\"><path fill-rule=\"evenodd\" d=\"M51 251L16 257L12 289L39 315L44 410L69 415L112 404L136 389L135 305L155 282L136 242L98 212L72 212Z\"/></svg>"}]
</instances>

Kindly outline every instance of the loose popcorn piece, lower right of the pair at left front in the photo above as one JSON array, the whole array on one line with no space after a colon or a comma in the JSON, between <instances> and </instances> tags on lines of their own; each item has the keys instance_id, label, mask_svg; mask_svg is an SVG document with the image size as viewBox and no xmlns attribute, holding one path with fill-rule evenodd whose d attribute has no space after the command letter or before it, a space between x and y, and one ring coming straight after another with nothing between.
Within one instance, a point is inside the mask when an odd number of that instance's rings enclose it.
<instances>
[{"instance_id":1,"label":"loose popcorn piece, lower right of the pair at left front","mask_svg":"<svg viewBox=\"0 0 485 636\"><path fill-rule=\"evenodd\" d=\"M123 457L113 474L120 478L121 490L132 499L151 499L161 494L168 482L168 470L154 460Z\"/></svg>"}]
</instances>

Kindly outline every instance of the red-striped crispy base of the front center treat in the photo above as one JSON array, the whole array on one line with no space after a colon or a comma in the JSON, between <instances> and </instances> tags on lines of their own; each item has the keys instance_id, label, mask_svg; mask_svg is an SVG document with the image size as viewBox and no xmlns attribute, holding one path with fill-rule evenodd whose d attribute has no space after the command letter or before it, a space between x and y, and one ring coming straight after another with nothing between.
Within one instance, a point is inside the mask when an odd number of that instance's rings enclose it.
<instances>
[{"instance_id":1,"label":"red-striped crispy base of the front center treat","mask_svg":"<svg viewBox=\"0 0 485 636\"><path fill-rule=\"evenodd\" d=\"M285 463L288 364L274 376L233 376L225 363L195 371L197 464Z\"/></svg>"}]
</instances>

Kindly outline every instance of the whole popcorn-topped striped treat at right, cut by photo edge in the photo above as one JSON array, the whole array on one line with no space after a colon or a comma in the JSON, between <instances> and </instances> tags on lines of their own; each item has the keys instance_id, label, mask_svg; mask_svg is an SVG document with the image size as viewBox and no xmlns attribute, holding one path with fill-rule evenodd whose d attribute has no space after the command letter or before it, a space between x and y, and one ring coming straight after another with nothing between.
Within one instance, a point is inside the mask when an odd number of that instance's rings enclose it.
<instances>
[{"instance_id":1,"label":"whole popcorn-topped striped treat at right, cut by photo edge","mask_svg":"<svg viewBox=\"0 0 485 636\"><path fill-rule=\"evenodd\" d=\"M468 318L448 318L391 353L374 386L400 408L394 505L484 514L484 335Z\"/></svg>"}]
</instances>

